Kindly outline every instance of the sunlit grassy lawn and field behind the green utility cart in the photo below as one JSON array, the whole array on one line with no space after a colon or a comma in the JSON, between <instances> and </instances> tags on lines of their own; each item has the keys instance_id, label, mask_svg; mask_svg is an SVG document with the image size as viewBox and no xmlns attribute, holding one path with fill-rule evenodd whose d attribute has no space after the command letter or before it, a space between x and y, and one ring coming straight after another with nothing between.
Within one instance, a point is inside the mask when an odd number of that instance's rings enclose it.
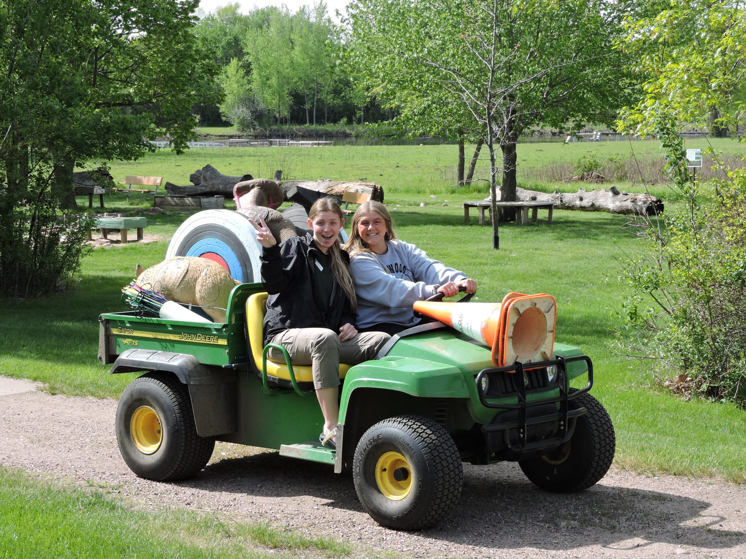
<instances>
[{"instance_id":1,"label":"sunlit grassy lawn and field behind the green utility cart","mask_svg":"<svg viewBox=\"0 0 746 559\"><path fill-rule=\"evenodd\" d=\"M730 140L721 144L734 153L739 148ZM518 148L519 157L528 163L548 157L572 160L586 148L601 153L621 150L624 145L527 144ZM658 149L654 142L636 142L633 148L651 153ZM594 359L594 393L614 420L618 465L639 472L718 476L745 483L744 411L726 404L686 402L656 391L649 387L651 378L639 365L609 353L616 327L612 309L624 298L624 288L615 279L616 258L636 250L639 243L624 229L627 219L557 211L554 224L548 226L545 212L540 212L538 224L501 227L501 250L491 250L490 228L475 224L475 215L471 225L464 224L459 203L479 198L480 193L449 194L448 180L439 175L439 168L450 164L454 156L452 146L230 148L193 150L181 157L159 152L113 169L116 178L125 173L163 174L175 183L188 182L189 172L207 162L236 175L272 176L275 168L282 168L304 178L376 180L386 189L387 203L401 204L392 212L399 236L474 277L480 300L501 300L507 291L544 291L557 297L557 341L577 345ZM376 179L372 171L380 171L378 176L383 178ZM659 188L665 192L665 186ZM438 198L430 198L430 193ZM134 207L122 195L107 200L110 211ZM448 206L440 205L444 200ZM421 201L428 205L420 207ZM141 198L134 203L145 206L148 202ZM148 215L146 233L162 240L94 250L84 260L81 277L69 294L0 302L0 325L7 332L0 338L0 373L48 382L52 392L117 397L134 375L109 376L109 367L96 361L97 317L101 312L125 309L119 289L132 279L136 264L147 267L163 259L167 239L183 219L180 214Z\"/></svg>"}]
</instances>

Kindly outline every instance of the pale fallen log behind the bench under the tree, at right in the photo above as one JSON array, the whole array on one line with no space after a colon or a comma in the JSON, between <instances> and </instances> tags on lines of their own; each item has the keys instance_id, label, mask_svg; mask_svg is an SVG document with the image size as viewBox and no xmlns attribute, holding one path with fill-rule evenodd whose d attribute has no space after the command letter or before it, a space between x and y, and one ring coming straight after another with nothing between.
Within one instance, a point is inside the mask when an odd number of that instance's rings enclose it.
<instances>
[{"instance_id":1,"label":"pale fallen log behind the bench under the tree, at right","mask_svg":"<svg viewBox=\"0 0 746 559\"><path fill-rule=\"evenodd\" d=\"M490 200L491 198L485 198ZM663 202L649 194L619 192L612 186L609 190L579 189L577 192L537 192L516 187L515 199L519 202L540 200L554 202L554 209L582 209L586 212L609 212L618 214L659 215L663 213Z\"/></svg>"}]
</instances>

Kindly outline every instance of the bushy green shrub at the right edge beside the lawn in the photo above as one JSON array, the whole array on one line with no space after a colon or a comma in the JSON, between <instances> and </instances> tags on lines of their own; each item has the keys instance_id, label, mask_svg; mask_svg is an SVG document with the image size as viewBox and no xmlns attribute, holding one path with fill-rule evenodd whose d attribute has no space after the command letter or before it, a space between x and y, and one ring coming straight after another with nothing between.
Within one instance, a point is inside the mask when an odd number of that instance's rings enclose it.
<instances>
[{"instance_id":1,"label":"bushy green shrub at the right edge beside the lawn","mask_svg":"<svg viewBox=\"0 0 746 559\"><path fill-rule=\"evenodd\" d=\"M671 124L659 138L665 171L683 207L638 222L645 248L623 261L629 296L618 348L649 360L661 385L746 403L746 171L712 180L698 197L682 139Z\"/></svg>"}]
</instances>

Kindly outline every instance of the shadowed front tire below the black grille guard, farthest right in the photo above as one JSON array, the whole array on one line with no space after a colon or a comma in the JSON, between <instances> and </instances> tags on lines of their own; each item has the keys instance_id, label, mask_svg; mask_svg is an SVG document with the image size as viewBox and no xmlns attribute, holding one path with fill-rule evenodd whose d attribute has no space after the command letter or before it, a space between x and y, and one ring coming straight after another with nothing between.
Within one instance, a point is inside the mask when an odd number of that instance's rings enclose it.
<instances>
[{"instance_id":1,"label":"shadowed front tire below the black grille guard, farthest right","mask_svg":"<svg viewBox=\"0 0 746 559\"><path fill-rule=\"evenodd\" d=\"M580 395L570 405L588 409L577 418L570 440L546 455L518 462L533 484L553 493L588 489L606 476L614 461L614 426L604 406L590 394Z\"/></svg>"}]
</instances>

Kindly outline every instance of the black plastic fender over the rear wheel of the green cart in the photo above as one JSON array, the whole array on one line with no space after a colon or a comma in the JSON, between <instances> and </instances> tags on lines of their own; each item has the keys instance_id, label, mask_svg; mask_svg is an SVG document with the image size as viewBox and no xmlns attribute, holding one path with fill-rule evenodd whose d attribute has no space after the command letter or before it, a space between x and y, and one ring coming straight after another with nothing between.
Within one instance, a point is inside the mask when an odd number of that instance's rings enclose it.
<instances>
[{"instance_id":1,"label":"black plastic fender over the rear wheel of the green cart","mask_svg":"<svg viewBox=\"0 0 746 559\"><path fill-rule=\"evenodd\" d=\"M174 373L189 388L197 435L213 437L238 430L238 377L233 370L201 364L195 356L155 350L125 350L111 374L160 370Z\"/></svg>"}]
</instances>

